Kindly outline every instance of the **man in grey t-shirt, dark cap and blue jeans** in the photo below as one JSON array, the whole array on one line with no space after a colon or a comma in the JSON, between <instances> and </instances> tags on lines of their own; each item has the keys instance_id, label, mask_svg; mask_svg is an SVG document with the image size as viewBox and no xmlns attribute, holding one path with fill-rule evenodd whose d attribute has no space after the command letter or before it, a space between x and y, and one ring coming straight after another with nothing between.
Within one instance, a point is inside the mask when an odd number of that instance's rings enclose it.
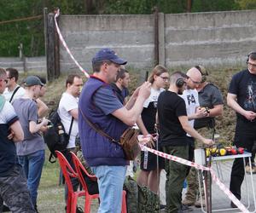
<instances>
[{"instance_id":1,"label":"man in grey t-shirt, dark cap and blue jeans","mask_svg":"<svg viewBox=\"0 0 256 213\"><path fill-rule=\"evenodd\" d=\"M20 118L24 131L24 140L17 144L19 162L26 175L26 184L32 197L32 204L37 211L38 186L44 166L44 140L39 131L47 130L49 120L43 118L38 124L38 106L34 101L38 98L44 84L38 77L25 79L25 95L15 99L13 106Z\"/></svg>"}]
</instances>

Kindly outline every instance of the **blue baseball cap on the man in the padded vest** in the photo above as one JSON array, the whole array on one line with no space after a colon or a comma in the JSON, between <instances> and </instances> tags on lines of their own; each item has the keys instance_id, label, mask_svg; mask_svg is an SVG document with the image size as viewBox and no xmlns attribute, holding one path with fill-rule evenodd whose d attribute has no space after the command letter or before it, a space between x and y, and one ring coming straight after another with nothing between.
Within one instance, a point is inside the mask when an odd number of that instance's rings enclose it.
<instances>
[{"instance_id":1,"label":"blue baseball cap on the man in the padded vest","mask_svg":"<svg viewBox=\"0 0 256 213\"><path fill-rule=\"evenodd\" d=\"M119 58L119 56L113 51L113 49L103 48L96 53L92 59L92 63L97 60L111 60L113 63L118 65L125 65L127 60Z\"/></svg>"}]
</instances>

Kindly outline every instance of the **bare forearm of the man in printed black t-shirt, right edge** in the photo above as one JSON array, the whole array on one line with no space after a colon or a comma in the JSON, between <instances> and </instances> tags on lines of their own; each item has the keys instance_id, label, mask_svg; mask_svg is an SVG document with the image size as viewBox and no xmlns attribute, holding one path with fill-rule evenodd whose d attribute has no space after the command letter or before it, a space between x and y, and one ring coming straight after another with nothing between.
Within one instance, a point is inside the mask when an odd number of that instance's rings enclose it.
<instances>
[{"instance_id":1,"label":"bare forearm of the man in printed black t-shirt, right edge","mask_svg":"<svg viewBox=\"0 0 256 213\"><path fill-rule=\"evenodd\" d=\"M229 107L231 107L233 110L235 110L237 113L241 114L248 120L253 120L256 118L256 113L253 111L247 111L240 107L240 105L236 101L237 95L228 93L227 95L227 104Z\"/></svg>"}]
</instances>

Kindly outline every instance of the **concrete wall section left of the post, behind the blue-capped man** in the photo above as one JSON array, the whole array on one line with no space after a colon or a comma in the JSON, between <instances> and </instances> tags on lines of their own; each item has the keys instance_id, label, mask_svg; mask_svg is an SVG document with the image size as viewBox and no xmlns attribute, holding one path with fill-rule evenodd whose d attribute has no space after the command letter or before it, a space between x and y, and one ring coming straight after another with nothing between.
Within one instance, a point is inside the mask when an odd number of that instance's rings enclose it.
<instances>
[{"instance_id":1,"label":"concrete wall section left of the post, behind the blue-capped man","mask_svg":"<svg viewBox=\"0 0 256 213\"><path fill-rule=\"evenodd\" d=\"M84 69L91 69L91 59L103 47L136 67L153 66L153 15L62 15L60 28L69 49ZM61 72L78 70L60 45Z\"/></svg>"}]
</instances>

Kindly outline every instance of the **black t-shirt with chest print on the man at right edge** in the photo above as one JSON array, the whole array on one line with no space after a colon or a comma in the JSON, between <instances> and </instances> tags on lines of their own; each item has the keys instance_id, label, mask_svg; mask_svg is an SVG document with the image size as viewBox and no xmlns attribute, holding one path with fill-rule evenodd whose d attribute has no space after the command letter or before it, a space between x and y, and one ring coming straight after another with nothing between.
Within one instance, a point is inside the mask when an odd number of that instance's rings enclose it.
<instances>
[{"instance_id":1,"label":"black t-shirt with chest print on the man at right edge","mask_svg":"<svg viewBox=\"0 0 256 213\"><path fill-rule=\"evenodd\" d=\"M231 79L229 93L237 96L240 107L256 112L256 75L248 70L237 72ZM247 120L239 113L236 113L236 116Z\"/></svg>"}]
</instances>

